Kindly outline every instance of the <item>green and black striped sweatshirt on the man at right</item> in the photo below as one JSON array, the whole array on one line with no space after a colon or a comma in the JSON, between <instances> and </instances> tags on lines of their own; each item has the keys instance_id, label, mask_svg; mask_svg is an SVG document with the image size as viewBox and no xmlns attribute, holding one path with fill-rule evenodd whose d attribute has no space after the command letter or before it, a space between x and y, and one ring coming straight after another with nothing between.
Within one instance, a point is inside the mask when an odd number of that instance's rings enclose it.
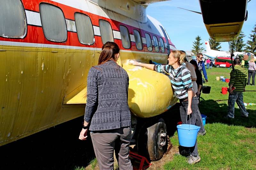
<instances>
[{"instance_id":1,"label":"green and black striped sweatshirt on the man at right","mask_svg":"<svg viewBox=\"0 0 256 170\"><path fill-rule=\"evenodd\" d=\"M247 84L247 74L246 71L240 66L235 66L235 71L230 72L229 85L236 87L234 92L243 92Z\"/></svg>"}]
</instances>

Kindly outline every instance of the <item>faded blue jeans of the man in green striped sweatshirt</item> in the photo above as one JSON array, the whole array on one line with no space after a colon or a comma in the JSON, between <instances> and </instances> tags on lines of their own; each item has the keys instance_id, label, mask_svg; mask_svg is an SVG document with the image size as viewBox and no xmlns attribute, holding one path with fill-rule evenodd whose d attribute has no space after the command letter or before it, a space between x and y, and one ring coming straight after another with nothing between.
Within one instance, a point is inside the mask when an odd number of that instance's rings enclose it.
<instances>
[{"instance_id":1,"label":"faded blue jeans of the man in green striped sweatshirt","mask_svg":"<svg viewBox=\"0 0 256 170\"><path fill-rule=\"evenodd\" d=\"M241 115L248 115L246 108L244 106L244 96L243 92L233 92L232 94L229 93L228 96L228 116L234 118L235 115L235 103L237 103L238 107L240 108Z\"/></svg>"}]
</instances>

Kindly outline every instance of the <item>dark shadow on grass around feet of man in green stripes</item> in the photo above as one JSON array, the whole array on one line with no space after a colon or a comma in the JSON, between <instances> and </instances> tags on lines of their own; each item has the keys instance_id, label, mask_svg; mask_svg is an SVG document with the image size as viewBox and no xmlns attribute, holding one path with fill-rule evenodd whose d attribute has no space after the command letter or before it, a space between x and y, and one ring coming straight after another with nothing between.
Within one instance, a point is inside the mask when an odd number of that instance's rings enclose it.
<instances>
[{"instance_id":1,"label":"dark shadow on grass around feet of man in green stripes","mask_svg":"<svg viewBox=\"0 0 256 170\"><path fill-rule=\"evenodd\" d=\"M247 107L249 113L248 118L241 117L240 109L235 106L235 118L227 119L224 116L228 113L228 101L223 100L224 103L218 103L216 100L201 100L199 109L201 114L207 115L207 123L220 122L228 125L244 126L252 128L256 126L256 110Z\"/></svg>"}]
</instances>

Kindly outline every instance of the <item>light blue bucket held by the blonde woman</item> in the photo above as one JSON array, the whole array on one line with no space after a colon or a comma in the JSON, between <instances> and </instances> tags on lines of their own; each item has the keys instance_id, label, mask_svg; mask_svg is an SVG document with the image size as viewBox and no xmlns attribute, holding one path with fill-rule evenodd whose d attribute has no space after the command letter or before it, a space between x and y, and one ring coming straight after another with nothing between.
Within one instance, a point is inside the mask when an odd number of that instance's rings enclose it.
<instances>
[{"instance_id":1,"label":"light blue bucket held by the blonde woman","mask_svg":"<svg viewBox=\"0 0 256 170\"><path fill-rule=\"evenodd\" d=\"M180 146L192 147L196 144L197 132L200 127L190 124L177 125Z\"/></svg>"}]
</instances>

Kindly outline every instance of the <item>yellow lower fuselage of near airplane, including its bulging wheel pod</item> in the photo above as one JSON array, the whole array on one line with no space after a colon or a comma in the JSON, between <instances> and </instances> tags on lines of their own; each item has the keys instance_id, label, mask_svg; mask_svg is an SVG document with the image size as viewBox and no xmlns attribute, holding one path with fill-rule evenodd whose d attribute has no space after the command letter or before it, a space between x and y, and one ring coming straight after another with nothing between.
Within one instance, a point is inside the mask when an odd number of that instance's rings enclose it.
<instances>
[{"instance_id":1,"label":"yellow lower fuselage of near airplane, including its bulging wheel pod","mask_svg":"<svg viewBox=\"0 0 256 170\"><path fill-rule=\"evenodd\" d=\"M17 46L0 50L0 146L84 115L86 78L100 51ZM124 50L120 59L130 77L129 106L135 115L159 115L176 103L167 76L125 63L165 63L167 55Z\"/></svg>"}]
</instances>

